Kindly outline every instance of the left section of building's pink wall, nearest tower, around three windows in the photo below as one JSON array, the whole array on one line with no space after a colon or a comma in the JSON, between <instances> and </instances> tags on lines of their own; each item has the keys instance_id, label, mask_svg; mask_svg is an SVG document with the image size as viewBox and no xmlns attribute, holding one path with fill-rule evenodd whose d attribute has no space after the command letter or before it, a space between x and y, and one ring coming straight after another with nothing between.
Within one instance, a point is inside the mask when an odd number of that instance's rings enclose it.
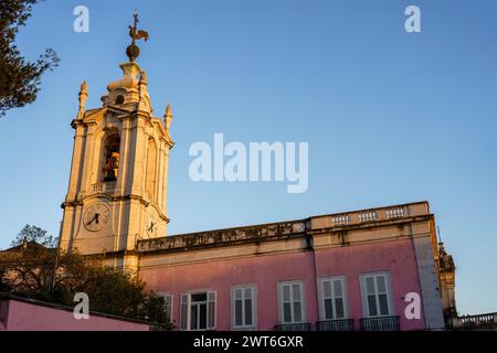
<instances>
[{"instance_id":1,"label":"left section of building's pink wall, nearest tower, around three windows","mask_svg":"<svg viewBox=\"0 0 497 353\"><path fill-rule=\"evenodd\" d=\"M292 265L290 265L292 264ZM314 277L310 253L293 253L278 256L255 256L235 260L209 261L163 269L141 270L141 278L155 291L173 295L173 320L179 327L180 295L191 290L218 292L218 330L230 330L230 287L257 286L258 330L273 330L278 321L276 282L304 280L306 298L314 298ZM315 320L315 307L309 306L307 318Z\"/></svg>"}]
</instances>

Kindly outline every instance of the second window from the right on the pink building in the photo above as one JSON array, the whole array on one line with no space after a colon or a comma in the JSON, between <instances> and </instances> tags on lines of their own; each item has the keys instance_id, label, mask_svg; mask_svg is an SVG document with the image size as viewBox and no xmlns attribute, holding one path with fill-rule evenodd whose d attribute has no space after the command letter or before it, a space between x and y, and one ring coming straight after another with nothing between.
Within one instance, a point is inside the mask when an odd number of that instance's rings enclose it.
<instances>
[{"instance_id":1,"label":"second window from the right on the pink building","mask_svg":"<svg viewBox=\"0 0 497 353\"><path fill-rule=\"evenodd\" d=\"M319 280L320 311L322 320L347 318L345 277L329 277Z\"/></svg>"}]
</instances>

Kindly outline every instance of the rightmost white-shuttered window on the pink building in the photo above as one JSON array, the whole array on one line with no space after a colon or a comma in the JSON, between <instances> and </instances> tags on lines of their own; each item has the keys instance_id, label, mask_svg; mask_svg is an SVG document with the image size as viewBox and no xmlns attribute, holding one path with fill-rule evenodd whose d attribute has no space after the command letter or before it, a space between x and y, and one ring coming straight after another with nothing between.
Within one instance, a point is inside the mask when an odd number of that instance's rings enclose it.
<instances>
[{"instance_id":1,"label":"rightmost white-shuttered window on the pink building","mask_svg":"<svg viewBox=\"0 0 497 353\"><path fill-rule=\"evenodd\" d=\"M361 289L366 317L393 314L388 272L362 275Z\"/></svg>"}]
</instances>

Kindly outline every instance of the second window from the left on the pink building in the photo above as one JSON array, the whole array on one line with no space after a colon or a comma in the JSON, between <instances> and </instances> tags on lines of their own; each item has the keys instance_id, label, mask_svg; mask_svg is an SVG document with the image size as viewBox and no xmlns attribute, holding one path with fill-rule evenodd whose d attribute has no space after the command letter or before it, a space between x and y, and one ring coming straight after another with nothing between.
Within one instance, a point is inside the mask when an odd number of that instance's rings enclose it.
<instances>
[{"instance_id":1,"label":"second window from the left on the pink building","mask_svg":"<svg viewBox=\"0 0 497 353\"><path fill-rule=\"evenodd\" d=\"M255 286L231 288L231 322L233 329L255 329Z\"/></svg>"}]
</instances>

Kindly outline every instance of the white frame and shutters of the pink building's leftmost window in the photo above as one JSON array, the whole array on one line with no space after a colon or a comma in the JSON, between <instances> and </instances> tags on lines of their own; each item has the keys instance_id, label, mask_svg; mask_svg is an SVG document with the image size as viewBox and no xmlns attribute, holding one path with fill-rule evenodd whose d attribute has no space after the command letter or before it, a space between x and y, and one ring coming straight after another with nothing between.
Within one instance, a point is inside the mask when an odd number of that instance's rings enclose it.
<instances>
[{"instance_id":1,"label":"white frame and shutters of the pink building's leftmost window","mask_svg":"<svg viewBox=\"0 0 497 353\"><path fill-rule=\"evenodd\" d=\"M191 329L191 296L203 295L207 296L207 308L205 308L205 329ZM213 318L210 315L210 307L213 303L214 313ZM186 312L184 312L186 310ZM218 295L212 290L194 290L182 293L180 297L180 330L181 331L212 331L216 328L216 315L218 315ZM212 325L211 325L212 320Z\"/></svg>"}]
</instances>

